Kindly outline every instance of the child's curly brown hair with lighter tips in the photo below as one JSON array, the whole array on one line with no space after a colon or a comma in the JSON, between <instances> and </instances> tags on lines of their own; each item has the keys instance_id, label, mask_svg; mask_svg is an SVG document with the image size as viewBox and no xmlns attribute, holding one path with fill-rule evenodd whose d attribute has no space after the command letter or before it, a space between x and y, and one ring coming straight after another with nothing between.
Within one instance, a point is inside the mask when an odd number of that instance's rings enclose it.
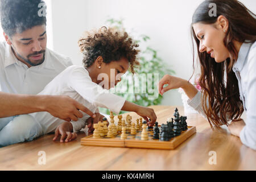
<instances>
[{"instance_id":1,"label":"child's curly brown hair with lighter tips","mask_svg":"<svg viewBox=\"0 0 256 182\"><path fill-rule=\"evenodd\" d=\"M84 56L82 62L85 67L90 67L98 56L102 56L104 63L118 61L124 57L129 61L132 73L134 67L139 65L139 45L133 42L127 32L117 28L101 27L97 31L85 32L85 36L78 43Z\"/></svg>"}]
</instances>

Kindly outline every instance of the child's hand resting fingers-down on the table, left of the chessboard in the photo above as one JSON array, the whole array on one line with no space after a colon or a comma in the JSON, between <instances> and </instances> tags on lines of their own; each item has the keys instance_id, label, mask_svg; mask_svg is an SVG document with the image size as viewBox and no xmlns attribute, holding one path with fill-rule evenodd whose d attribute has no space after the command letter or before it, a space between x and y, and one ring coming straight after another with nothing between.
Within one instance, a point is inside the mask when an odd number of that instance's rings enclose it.
<instances>
[{"instance_id":1,"label":"child's hand resting fingers-down on the table, left of the chessboard","mask_svg":"<svg viewBox=\"0 0 256 182\"><path fill-rule=\"evenodd\" d=\"M64 139L65 139L65 142L69 142L73 139L76 139L77 137L77 134L76 133L72 133L73 131L73 126L72 126L72 123L70 122L64 122L64 123L61 123L55 130L55 136L54 138L52 139L53 141L55 141L59 135L61 135L60 137L60 142L64 142Z\"/></svg>"}]
</instances>

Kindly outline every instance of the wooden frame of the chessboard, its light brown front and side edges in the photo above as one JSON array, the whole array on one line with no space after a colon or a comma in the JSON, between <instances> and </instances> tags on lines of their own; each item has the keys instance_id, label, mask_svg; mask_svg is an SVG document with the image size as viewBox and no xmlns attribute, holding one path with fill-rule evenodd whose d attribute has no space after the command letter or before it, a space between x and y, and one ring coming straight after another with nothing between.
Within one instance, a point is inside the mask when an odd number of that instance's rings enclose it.
<instances>
[{"instance_id":1,"label":"wooden frame of the chessboard, its light brown front and side edges","mask_svg":"<svg viewBox=\"0 0 256 182\"><path fill-rule=\"evenodd\" d=\"M150 131L152 132L152 131ZM104 147L129 147L129 148L153 148L153 149L166 149L173 150L189 137L196 133L195 126L188 126L188 129L181 132L181 135L172 138L170 141L161 141L159 139L140 140L138 138L131 139L132 135L127 139L120 139L119 137L113 138L93 138L93 135L81 138L81 145L83 146L104 146ZM118 136L121 134L118 134ZM139 134L141 136L141 134Z\"/></svg>"}]
</instances>

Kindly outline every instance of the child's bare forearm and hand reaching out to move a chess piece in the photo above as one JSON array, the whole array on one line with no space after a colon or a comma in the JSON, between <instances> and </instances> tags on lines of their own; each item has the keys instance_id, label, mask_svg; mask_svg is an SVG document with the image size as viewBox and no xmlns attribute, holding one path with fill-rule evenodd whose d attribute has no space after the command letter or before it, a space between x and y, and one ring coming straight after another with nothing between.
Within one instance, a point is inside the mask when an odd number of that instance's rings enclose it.
<instances>
[{"instance_id":1,"label":"child's bare forearm and hand reaching out to move a chess piece","mask_svg":"<svg viewBox=\"0 0 256 182\"><path fill-rule=\"evenodd\" d=\"M147 121L147 124L149 126L153 126L156 121L156 115L155 115L154 109L144 107L144 106L139 106L129 101L125 101L125 104L123 104L123 107L121 110L134 111L138 115L141 115L141 117ZM150 121L148 121L148 118L150 118Z\"/></svg>"}]
</instances>

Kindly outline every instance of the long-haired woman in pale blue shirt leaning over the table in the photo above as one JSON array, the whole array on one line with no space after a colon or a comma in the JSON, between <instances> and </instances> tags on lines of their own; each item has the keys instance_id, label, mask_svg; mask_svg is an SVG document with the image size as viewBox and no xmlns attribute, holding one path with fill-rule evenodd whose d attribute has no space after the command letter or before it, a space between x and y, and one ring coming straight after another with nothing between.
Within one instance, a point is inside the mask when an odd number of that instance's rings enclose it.
<instances>
[{"instance_id":1,"label":"long-haired woman in pale blue shirt leaning over the table","mask_svg":"<svg viewBox=\"0 0 256 182\"><path fill-rule=\"evenodd\" d=\"M216 5L217 16L209 15L210 3ZM202 91L187 80L165 75L159 93L182 88L188 104L204 114L212 128L227 125L230 133L256 150L255 14L236 0L207 0L193 14L191 31L197 44ZM163 88L165 84L168 86ZM240 118L244 110L246 124Z\"/></svg>"}]
</instances>

